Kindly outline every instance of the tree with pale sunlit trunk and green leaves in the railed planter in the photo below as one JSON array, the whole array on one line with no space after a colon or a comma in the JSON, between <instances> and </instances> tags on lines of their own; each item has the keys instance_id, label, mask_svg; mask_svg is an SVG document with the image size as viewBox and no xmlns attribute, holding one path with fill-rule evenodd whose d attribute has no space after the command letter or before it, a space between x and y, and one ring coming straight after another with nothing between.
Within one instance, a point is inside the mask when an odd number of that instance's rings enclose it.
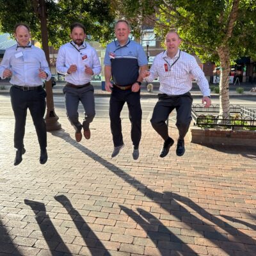
<instances>
[{"instance_id":1,"label":"tree with pale sunlit trunk and green leaves in the railed planter","mask_svg":"<svg viewBox=\"0 0 256 256\"><path fill-rule=\"evenodd\" d=\"M177 29L182 49L202 61L220 64L220 115L229 115L230 63L241 56L256 58L256 2L254 0L113 0L116 12L140 32L154 26L161 38Z\"/></svg>"}]
</instances>

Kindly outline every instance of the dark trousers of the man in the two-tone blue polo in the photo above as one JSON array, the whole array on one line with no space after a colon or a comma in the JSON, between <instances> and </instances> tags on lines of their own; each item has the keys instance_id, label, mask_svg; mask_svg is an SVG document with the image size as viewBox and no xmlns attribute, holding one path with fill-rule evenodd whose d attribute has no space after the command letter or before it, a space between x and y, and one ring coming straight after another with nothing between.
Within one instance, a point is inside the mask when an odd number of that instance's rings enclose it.
<instances>
[{"instance_id":1,"label":"dark trousers of the man in the two-tone blue polo","mask_svg":"<svg viewBox=\"0 0 256 256\"><path fill-rule=\"evenodd\" d=\"M109 102L109 117L113 143L115 147L124 144L120 113L127 102L129 119L131 122L131 139L134 147L139 147L141 139L141 118L140 92L120 90L114 87Z\"/></svg>"}]
</instances>

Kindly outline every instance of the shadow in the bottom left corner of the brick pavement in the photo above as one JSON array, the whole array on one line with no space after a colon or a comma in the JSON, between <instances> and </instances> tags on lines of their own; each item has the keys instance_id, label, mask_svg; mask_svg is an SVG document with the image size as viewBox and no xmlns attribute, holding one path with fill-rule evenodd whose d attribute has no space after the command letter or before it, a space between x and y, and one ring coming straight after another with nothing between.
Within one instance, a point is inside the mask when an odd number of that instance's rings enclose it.
<instances>
[{"instance_id":1,"label":"shadow in the bottom left corner of the brick pavement","mask_svg":"<svg viewBox=\"0 0 256 256\"><path fill-rule=\"evenodd\" d=\"M12 238L8 235L8 231L4 227L0 219L0 255L16 255L22 254L17 250L17 245L12 243Z\"/></svg>"}]
</instances>

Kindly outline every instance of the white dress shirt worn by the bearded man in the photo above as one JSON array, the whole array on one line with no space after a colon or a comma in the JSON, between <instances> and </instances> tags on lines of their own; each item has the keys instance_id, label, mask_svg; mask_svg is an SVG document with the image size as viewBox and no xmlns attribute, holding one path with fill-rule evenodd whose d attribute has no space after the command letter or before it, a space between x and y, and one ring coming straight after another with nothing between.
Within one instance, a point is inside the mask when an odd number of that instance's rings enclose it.
<instances>
[{"instance_id":1,"label":"white dress shirt worn by the bearded man","mask_svg":"<svg viewBox=\"0 0 256 256\"><path fill-rule=\"evenodd\" d=\"M67 73L70 65L77 65L76 72ZM92 68L93 75L100 74L100 60L97 52L90 44L83 42L83 45L79 47L74 42L69 42L61 45L56 61L56 70L65 75L68 83L81 85L92 80L92 76L85 73L85 65Z\"/></svg>"}]
</instances>

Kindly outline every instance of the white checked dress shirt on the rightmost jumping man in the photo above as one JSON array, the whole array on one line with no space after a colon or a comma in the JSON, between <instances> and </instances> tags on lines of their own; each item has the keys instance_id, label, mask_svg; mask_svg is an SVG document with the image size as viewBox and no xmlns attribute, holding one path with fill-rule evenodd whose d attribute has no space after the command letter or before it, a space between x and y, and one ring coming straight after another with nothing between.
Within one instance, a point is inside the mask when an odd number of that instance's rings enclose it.
<instances>
[{"instance_id":1,"label":"white checked dress shirt on the rightmost jumping man","mask_svg":"<svg viewBox=\"0 0 256 256\"><path fill-rule=\"evenodd\" d=\"M154 58L150 68L150 76L145 80L150 82L159 77L159 91L167 95L182 95L192 88L191 78L195 78L202 94L209 96L211 90L204 72L196 63L195 58L183 51L170 58L166 51Z\"/></svg>"}]
</instances>

